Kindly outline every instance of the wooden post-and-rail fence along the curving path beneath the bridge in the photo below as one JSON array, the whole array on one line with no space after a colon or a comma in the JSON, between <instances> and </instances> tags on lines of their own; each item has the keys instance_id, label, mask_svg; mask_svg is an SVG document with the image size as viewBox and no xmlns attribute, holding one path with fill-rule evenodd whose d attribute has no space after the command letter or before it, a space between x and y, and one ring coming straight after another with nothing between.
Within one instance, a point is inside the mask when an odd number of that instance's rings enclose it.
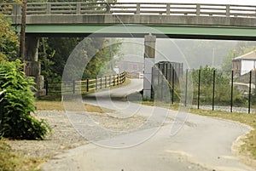
<instances>
[{"instance_id":1,"label":"wooden post-and-rail fence along the curving path beneath the bridge","mask_svg":"<svg viewBox=\"0 0 256 171\"><path fill-rule=\"evenodd\" d=\"M125 72L105 77L97 77L95 79L86 79L83 81L69 82L45 82L46 95L48 94L76 94L88 93L93 90L114 87L125 83Z\"/></svg>"}]
</instances>

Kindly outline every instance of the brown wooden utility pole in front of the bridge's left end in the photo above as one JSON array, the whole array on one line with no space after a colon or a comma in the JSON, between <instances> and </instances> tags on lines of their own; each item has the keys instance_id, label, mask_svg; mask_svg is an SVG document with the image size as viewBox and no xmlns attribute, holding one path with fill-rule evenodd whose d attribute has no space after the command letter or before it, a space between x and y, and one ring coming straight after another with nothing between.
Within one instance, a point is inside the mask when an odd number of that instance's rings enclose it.
<instances>
[{"instance_id":1,"label":"brown wooden utility pole in front of the bridge's left end","mask_svg":"<svg viewBox=\"0 0 256 171\"><path fill-rule=\"evenodd\" d=\"M20 57L21 62L25 62L25 43L26 43L26 0L22 1L21 12L21 29L20 29Z\"/></svg>"}]
</instances>

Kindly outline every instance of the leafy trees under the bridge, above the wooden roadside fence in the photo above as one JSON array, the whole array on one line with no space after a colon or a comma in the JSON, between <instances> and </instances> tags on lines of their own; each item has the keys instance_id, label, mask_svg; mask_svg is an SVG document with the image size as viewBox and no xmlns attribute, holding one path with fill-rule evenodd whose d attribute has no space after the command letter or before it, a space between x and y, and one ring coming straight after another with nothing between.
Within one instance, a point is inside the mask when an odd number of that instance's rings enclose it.
<instances>
[{"instance_id":1,"label":"leafy trees under the bridge, above the wooden roadside fence","mask_svg":"<svg viewBox=\"0 0 256 171\"><path fill-rule=\"evenodd\" d=\"M110 75L113 73L113 68L109 62L113 60L113 55L118 53L120 43L115 42L111 45L108 43L107 39L99 37L87 37L84 40L80 37L42 38L39 46L42 75L49 80L60 81L70 54L76 56L73 58L76 60L74 63L79 64L79 66L68 66L71 73L78 71L78 68L84 68L88 63L84 69L83 79ZM73 50L75 48L76 50ZM73 74L71 77L81 78Z\"/></svg>"}]
</instances>

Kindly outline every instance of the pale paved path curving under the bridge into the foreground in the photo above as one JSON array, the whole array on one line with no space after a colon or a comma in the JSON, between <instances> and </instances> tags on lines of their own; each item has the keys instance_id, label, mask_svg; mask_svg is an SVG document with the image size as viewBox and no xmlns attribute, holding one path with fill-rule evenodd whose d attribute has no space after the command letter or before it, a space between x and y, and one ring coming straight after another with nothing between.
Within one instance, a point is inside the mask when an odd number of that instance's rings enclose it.
<instances>
[{"instance_id":1,"label":"pale paved path curving under the bridge into the foreground","mask_svg":"<svg viewBox=\"0 0 256 171\"><path fill-rule=\"evenodd\" d=\"M232 143L251 128L240 123L212 117L200 117L189 114L185 122L174 122L179 114L159 107L150 107L130 103L129 101L109 100L110 96L131 93L131 89L140 90L141 80L132 80L129 86L116 88L108 92L94 94L95 99L85 99L85 103L102 105L119 111L115 115L130 117L140 115L148 117L156 111L160 117L168 117L160 130L150 139L134 145L145 134L151 134L155 127L139 129L112 138L99 140L96 144L83 145L54 157L43 166L45 171L253 171L241 164L232 155ZM100 96L98 96L101 94ZM104 97L104 98L101 98ZM117 96L115 96L117 97ZM129 98L138 98L136 94ZM164 114L163 114L164 113ZM117 117L117 116L114 116ZM183 117L180 117L183 118ZM159 119L159 120L158 120ZM76 126L76 125L74 125ZM172 128L180 128L177 134L170 134ZM131 147L127 147L133 144ZM108 148L102 145L127 147Z\"/></svg>"}]
</instances>

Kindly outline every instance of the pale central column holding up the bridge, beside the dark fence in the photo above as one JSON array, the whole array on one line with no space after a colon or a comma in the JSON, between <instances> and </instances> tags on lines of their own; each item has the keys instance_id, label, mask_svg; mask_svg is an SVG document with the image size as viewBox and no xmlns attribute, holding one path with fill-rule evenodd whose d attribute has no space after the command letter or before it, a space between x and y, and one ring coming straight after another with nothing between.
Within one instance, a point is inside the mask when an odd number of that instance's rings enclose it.
<instances>
[{"instance_id":1,"label":"pale central column holding up the bridge, beside the dark fence","mask_svg":"<svg viewBox=\"0 0 256 171\"><path fill-rule=\"evenodd\" d=\"M143 99L152 98L152 67L154 66L156 37L146 35L144 39L144 78L143 78Z\"/></svg>"}]
</instances>

